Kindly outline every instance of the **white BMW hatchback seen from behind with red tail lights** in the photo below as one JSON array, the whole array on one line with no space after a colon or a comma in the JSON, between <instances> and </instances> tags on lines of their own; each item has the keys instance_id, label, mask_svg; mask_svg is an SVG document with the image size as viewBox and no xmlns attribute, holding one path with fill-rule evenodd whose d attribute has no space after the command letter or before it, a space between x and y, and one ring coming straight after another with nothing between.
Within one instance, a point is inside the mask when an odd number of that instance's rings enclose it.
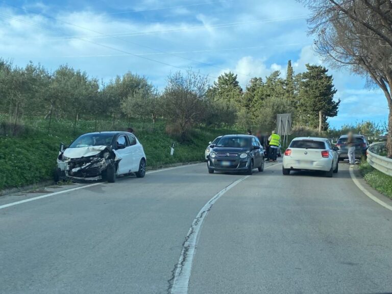
<instances>
[{"instance_id":1,"label":"white BMW hatchback seen from behind with red tail lights","mask_svg":"<svg viewBox=\"0 0 392 294\"><path fill-rule=\"evenodd\" d=\"M295 138L283 155L283 175L289 175L291 170L321 170L332 177L338 170L336 151L326 138Z\"/></svg>"}]
</instances>

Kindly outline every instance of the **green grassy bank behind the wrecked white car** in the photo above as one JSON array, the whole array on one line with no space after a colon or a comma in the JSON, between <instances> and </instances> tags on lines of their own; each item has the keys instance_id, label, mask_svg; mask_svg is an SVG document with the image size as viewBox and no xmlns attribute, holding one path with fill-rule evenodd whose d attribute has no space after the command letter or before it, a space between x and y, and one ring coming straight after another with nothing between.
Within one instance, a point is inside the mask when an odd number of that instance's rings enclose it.
<instances>
[{"instance_id":1,"label":"green grassy bank behind the wrecked white car","mask_svg":"<svg viewBox=\"0 0 392 294\"><path fill-rule=\"evenodd\" d=\"M97 131L126 130L128 123L122 122L121 125L117 122L113 128L111 124L108 127L101 125ZM79 121L79 129L74 133L72 121L56 121L48 134L47 129L42 128L45 124L46 121L37 120L29 124L30 127L26 125L26 130L19 136L0 136L0 189L53 179L60 143L68 144L80 134L94 131L95 128L94 121ZM143 144L148 167L203 160L209 141L218 135L234 133L227 129L199 128L191 132L187 142L181 143L166 135L162 124L154 132L148 127L140 129L135 128L135 134ZM173 142L176 147L174 156L171 156Z\"/></svg>"}]
</instances>

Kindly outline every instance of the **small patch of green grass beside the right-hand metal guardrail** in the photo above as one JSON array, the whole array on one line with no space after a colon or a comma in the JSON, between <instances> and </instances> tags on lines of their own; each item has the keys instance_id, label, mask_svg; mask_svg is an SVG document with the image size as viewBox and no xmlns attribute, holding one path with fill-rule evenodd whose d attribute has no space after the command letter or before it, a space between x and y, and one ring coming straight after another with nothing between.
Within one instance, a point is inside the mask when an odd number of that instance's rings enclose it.
<instances>
[{"instance_id":1,"label":"small patch of green grass beside the right-hand metal guardrail","mask_svg":"<svg viewBox=\"0 0 392 294\"><path fill-rule=\"evenodd\" d=\"M392 177L381 173L381 171L373 168L365 160L359 165L359 170L365 181L375 188L377 191L392 198Z\"/></svg>"}]
</instances>

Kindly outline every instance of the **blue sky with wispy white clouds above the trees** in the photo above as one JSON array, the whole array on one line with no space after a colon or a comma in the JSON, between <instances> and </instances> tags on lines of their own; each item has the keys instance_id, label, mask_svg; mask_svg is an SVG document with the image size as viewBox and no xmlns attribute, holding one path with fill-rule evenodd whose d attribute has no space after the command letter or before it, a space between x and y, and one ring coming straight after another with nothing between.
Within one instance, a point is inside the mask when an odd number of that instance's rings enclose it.
<instances>
[{"instance_id":1,"label":"blue sky with wispy white clouds above the trees","mask_svg":"<svg viewBox=\"0 0 392 294\"><path fill-rule=\"evenodd\" d=\"M0 2L0 57L50 70L61 64L110 81L127 71L163 89L170 72L192 68L211 82L233 71L243 88L252 77L321 64L308 36L309 11L295 0L6 0ZM381 90L348 69L330 69L341 100L339 128L387 121Z\"/></svg>"}]
</instances>

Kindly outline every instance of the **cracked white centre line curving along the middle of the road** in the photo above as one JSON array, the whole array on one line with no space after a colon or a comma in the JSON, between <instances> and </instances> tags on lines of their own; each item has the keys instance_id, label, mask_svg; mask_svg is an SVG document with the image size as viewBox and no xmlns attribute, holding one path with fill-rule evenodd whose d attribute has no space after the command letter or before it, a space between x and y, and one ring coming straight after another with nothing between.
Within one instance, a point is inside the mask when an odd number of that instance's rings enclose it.
<instances>
[{"instance_id":1,"label":"cracked white centre line curving along the middle of the road","mask_svg":"<svg viewBox=\"0 0 392 294\"><path fill-rule=\"evenodd\" d=\"M279 165L279 164L281 164L281 163L277 163L277 164L265 167L264 169L271 168L271 167ZM203 206L203 208L199 211L199 213L193 219L192 225L190 226L188 234L185 237L185 242L183 244L180 259L176 265L176 271L175 271L174 277L173 277L173 284L171 285L171 290L170 290L171 294L187 294L188 293L188 284L189 284L190 273L191 273L191 269L192 269L193 257L194 257L194 253L195 253L196 246L198 243L200 229L203 226L203 222L204 222L205 217L208 214L208 211L211 209L211 207L214 205L214 203L220 197L222 197L222 195L224 195L231 188L235 187L236 185L241 183L243 180L248 179L249 177L250 176L242 177L239 180L231 183L229 186L227 186L223 190L220 190L218 193L216 193L214 195L214 197L212 197L210 199L210 201L208 201Z\"/></svg>"}]
</instances>

